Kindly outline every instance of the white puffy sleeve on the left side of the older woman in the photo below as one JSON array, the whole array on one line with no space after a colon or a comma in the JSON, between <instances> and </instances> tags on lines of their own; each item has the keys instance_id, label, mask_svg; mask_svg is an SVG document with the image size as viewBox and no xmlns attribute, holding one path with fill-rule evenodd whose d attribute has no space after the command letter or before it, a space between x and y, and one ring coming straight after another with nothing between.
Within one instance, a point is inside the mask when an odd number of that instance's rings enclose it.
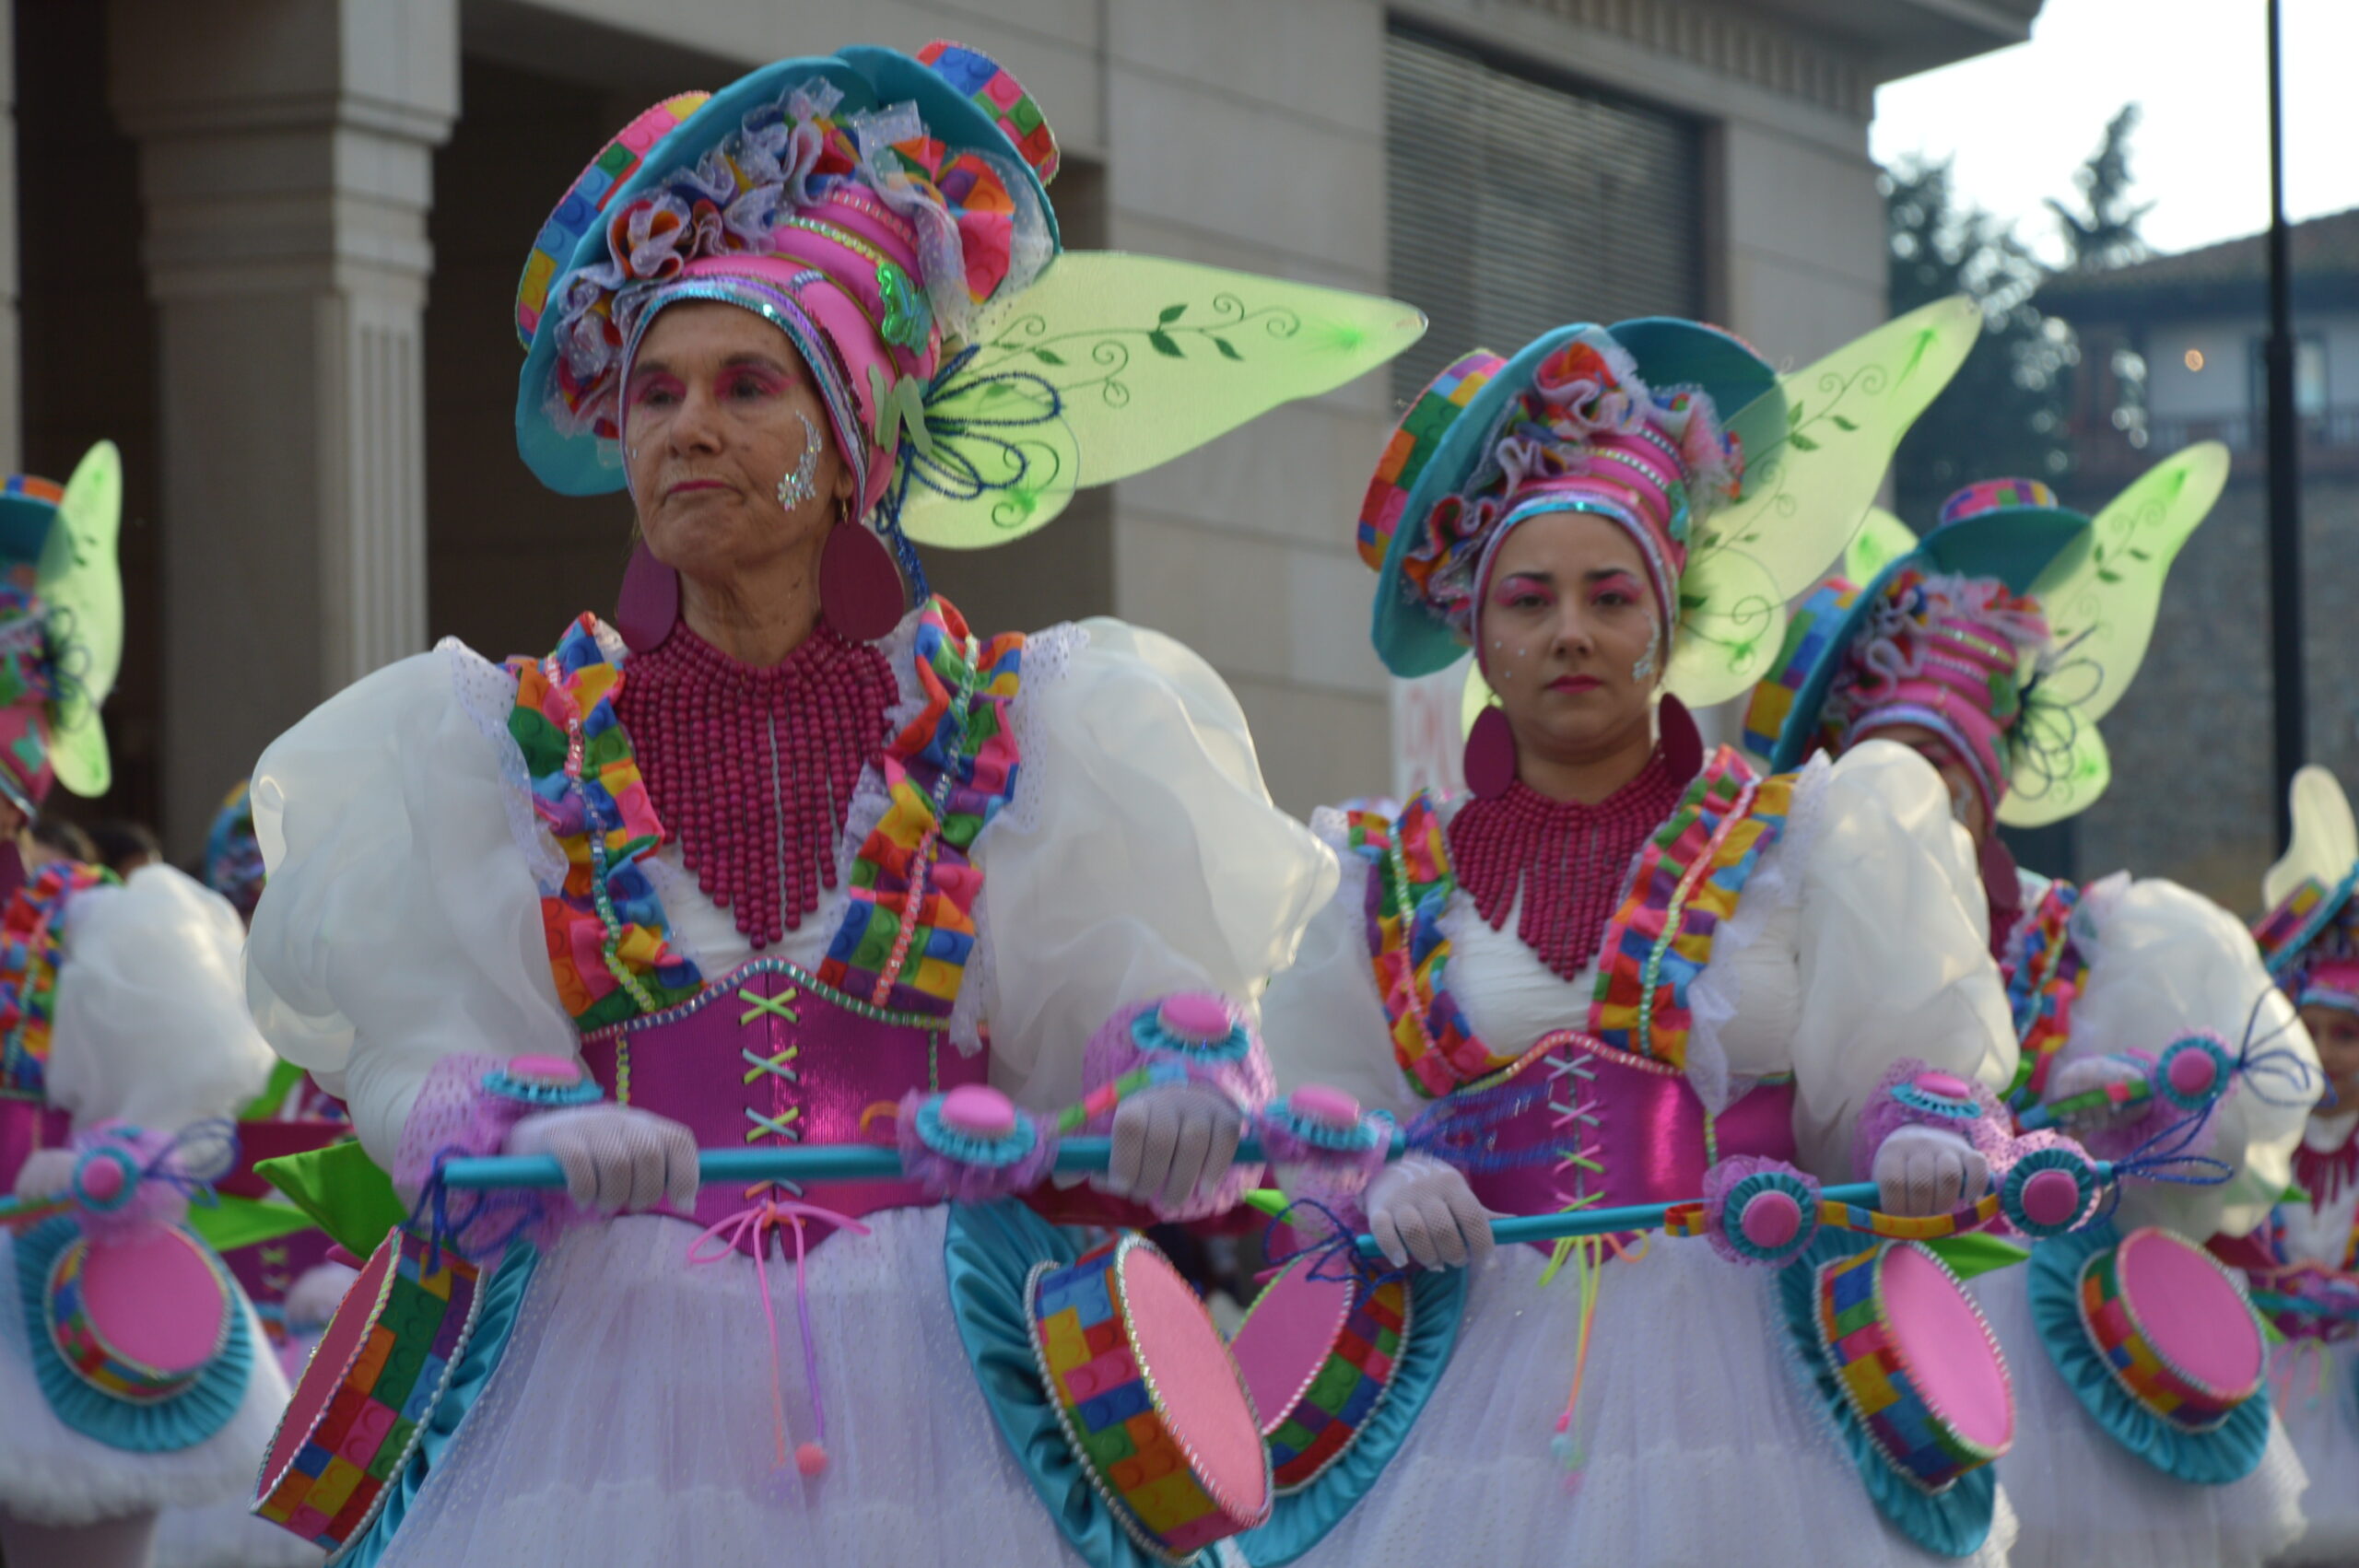
<instances>
[{"instance_id":1,"label":"white puffy sleeve on the left side of the older woman","mask_svg":"<svg viewBox=\"0 0 2359 1568\"><path fill-rule=\"evenodd\" d=\"M512 813L524 773L500 752L505 679L443 644L330 698L255 766L269 882L245 997L387 1170L443 1056L578 1054Z\"/></svg>"}]
</instances>

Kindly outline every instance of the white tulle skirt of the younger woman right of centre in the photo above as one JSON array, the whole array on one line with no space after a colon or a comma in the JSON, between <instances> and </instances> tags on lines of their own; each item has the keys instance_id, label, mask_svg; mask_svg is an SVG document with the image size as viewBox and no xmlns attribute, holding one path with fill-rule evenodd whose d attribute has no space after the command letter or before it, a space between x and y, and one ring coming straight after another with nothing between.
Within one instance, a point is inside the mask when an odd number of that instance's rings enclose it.
<instances>
[{"instance_id":1,"label":"white tulle skirt of the younger woman right of centre","mask_svg":"<svg viewBox=\"0 0 2359 1568\"><path fill-rule=\"evenodd\" d=\"M1774 1276L1654 1238L1604 1269L1576 1415L1578 1488L1548 1450L1581 1349L1571 1269L1505 1247L1467 1283L1432 1403L1375 1488L1302 1563L1321 1568L1925 1568L1807 1403ZM2000 1490L1991 1540L2012 1535Z\"/></svg>"}]
</instances>

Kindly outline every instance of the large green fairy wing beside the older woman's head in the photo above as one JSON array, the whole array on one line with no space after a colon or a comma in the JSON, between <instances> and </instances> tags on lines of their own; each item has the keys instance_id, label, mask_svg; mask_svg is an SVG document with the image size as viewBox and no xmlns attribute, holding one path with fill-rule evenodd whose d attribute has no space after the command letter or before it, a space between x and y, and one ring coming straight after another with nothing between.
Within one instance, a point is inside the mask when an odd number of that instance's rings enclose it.
<instances>
[{"instance_id":1,"label":"large green fairy wing beside the older woman's head","mask_svg":"<svg viewBox=\"0 0 2359 1568\"><path fill-rule=\"evenodd\" d=\"M1139 474L1425 335L1399 299L1069 250L951 358L903 420L920 545L1005 545L1080 486Z\"/></svg>"}]
</instances>

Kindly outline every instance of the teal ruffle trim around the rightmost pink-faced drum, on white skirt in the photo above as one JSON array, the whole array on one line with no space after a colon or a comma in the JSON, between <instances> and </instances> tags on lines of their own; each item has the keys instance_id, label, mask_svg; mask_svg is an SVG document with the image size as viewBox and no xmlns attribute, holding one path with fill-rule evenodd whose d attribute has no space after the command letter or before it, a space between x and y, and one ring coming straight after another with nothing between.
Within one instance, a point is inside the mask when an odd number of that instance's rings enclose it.
<instances>
[{"instance_id":1,"label":"teal ruffle trim around the rightmost pink-faced drum, on white skirt","mask_svg":"<svg viewBox=\"0 0 2359 1568\"><path fill-rule=\"evenodd\" d=\"M2081 1327L2081 1266L2121 1240L2111 1224L2043 1240L2031 1250L2031 1323L2057 1377L2109 1438L2175 1481L2227 1485L2260 1467L2269 1445L2269 1384L2210 1431L2180 1431L2114 1382L2104 1353Z\"/></svg>"}]
</instances>

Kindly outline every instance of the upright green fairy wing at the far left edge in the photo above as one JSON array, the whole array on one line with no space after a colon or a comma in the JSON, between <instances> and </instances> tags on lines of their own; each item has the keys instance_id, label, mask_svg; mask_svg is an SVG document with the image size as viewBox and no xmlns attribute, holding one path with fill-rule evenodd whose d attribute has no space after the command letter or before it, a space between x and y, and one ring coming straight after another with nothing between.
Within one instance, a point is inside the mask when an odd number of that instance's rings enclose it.
<instances>
[{"instance_id":1,"label":"upright green fairy wing at the far left edge","mask_svg":"<svg viewBox=\"0 0 2359 1568\"><path fill-rule=\"evenodd\" d=\"M75 795L106 795L113 766L99 707L123 670L123 571L116 564L123 455L113 441L99 441L73 469L57 523L38 566L59 670L50 759L57 783Z\"/></svg>"}]
</instances>

